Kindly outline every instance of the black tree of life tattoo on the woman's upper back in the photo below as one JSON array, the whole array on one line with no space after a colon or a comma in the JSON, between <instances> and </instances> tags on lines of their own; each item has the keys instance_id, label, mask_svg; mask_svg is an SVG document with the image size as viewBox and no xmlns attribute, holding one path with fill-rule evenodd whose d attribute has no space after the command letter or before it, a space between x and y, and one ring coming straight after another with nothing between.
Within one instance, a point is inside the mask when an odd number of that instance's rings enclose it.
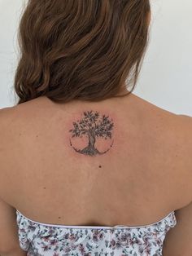
<instances>
[{"instance_id":1,"label":"black tree of life tattoo on the woman's upper back","mask_svg":"<svg viewBox=\"0 0 192 256\"><path fill-rule=\"evenodd\" d=\"M77 149L72 146L72 141L70 139L70 144L72 148L81 154L95 156L95 155L103 155L111 148L113 144L113 140L110 148L108 148L104 152L99 152L97 148L95 148L94 144L97 138L102 139L111 139L111 132L113 130L114 124L112 119L109 120L109 117L106 115L101 115L97 111L93 112L87 111L83 113L83 117L81 120L73 121L73 129L69 130L72 133L73 137L82 137L83 135L87 136L89 139L88 145L83 149Z\"/></svg>"}]
</instances>

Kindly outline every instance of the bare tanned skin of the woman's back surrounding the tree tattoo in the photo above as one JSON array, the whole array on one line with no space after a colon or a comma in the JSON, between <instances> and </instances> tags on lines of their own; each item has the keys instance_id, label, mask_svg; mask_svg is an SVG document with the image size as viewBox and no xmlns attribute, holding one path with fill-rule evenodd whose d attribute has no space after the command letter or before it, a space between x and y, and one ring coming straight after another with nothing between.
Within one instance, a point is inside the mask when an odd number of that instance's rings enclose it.
<instances>
[{"instance_id":1,"label":"bare tanned skin of the woman's back surrounding the tree tattoo","mask_svg":"<svg viewBox=\"0 0 192 256\"><path fill-rule=\"evenodd\" d=\"M90 110L114 123L112 147L101 155L76 152L70 145L70 139L76 148L88 143L88 137L72 138L69 130ZM1 195L28 218L63 225L140 226L191 201L185 122L136 95L68 104L41 97L11 108L8 115ZM111 145L110 138L96 139L100 151Z\"/></svg>"}]
</instances>

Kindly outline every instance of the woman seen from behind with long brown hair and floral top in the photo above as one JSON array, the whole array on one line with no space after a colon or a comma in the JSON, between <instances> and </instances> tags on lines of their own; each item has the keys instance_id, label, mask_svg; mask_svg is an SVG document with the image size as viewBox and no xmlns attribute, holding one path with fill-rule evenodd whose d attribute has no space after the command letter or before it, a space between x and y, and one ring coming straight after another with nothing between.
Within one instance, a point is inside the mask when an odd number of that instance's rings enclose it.
<instances>
[{"instance_id":1,"label":"woman seen from behind with long brown hair and floral top","mask_svg":"<svg viewBox=\"0 0 192 256\"><path fill-rule=\"evenodd\" d=\"M191 117L132 94L150 19L148 0L28 2L0 112L2 256L190 256Z\"/></svg>"}]
</instances>

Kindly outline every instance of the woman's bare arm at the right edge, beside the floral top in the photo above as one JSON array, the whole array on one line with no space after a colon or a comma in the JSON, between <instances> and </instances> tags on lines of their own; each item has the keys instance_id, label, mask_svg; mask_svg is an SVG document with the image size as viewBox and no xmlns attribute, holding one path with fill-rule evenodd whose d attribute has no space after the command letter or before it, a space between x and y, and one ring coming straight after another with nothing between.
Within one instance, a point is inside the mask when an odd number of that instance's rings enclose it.
<instances>
[{"instance_id":1,"label":"woman's bare arm at the right edge, beside the floral top","mask_svg":"<svg viewBox=\"0 0 192 256\"><path fill-rule=\"evenodd\" d=\"M175 211L177 225L171 228L165 237L163 256L192 256L192 117L180 117L178 126L184 138L181 146L181 179L185 179L180 193L187 201L185 206Z\"/></svg>"}]
</instances>

